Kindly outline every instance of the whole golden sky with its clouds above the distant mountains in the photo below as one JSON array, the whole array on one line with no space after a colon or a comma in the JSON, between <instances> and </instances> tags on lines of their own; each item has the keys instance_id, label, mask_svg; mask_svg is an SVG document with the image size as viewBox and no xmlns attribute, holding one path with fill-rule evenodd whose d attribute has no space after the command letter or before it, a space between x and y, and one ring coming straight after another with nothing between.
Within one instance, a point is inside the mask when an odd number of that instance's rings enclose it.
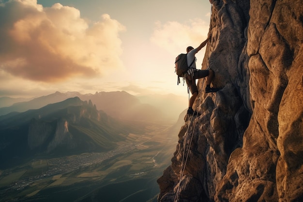
<instances>
[{"instance_id":1,"label":"whole golden sky with its clouds above the distant mountains","mask_svg":"<svg viewBox=\"0 0 303 202\"><path fill-rule=\"evenodd\" d=\"M207 38L210 14L209 0L0 0L0 97L186 97L175 58Z\"/></svg>"}]
</instances>

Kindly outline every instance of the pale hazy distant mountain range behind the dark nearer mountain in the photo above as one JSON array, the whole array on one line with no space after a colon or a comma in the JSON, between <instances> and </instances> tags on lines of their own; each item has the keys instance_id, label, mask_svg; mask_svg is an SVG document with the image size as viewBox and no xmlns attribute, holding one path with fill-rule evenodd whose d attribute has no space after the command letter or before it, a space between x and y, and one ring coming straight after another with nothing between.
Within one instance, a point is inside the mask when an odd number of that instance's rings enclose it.
<instances>
[{"instance_id":1,"label":"pale hazy distant mountain range behind the dark nearer mountain","mask_svg":"<svg viewBox=\"0 0 303 202\"><path fill-rule=\"evenodd\" d=\"M96 92L95 94L56 92L22 102L18 102L22 98L1 97L0 106L3 107L0 108L0 116L11 112L39 109L47 104L76 96L83 101L91 100L96 105L96 109L103 110L111 117L120 120L176 121L176 117L187 107L186 99L173 94L134 96L125 91Z\"/></svg>"}]
</instances>

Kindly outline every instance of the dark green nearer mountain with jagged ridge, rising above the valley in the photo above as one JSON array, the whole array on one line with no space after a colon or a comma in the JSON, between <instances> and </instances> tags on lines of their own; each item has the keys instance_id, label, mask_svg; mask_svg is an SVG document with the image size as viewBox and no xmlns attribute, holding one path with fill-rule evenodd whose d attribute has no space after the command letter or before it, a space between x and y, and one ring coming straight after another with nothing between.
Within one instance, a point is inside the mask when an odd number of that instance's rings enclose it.
<instances>
[{"instance_id":1,"label":"dark green nearer mountain with jagged ridge, rising above the valley","mask_svg":"<svg viewBox=\"0 0 303 202\"><path fill-rule=\"evenodd\" d=\"M143 124L121 121L97 110L79 97L40 109L0 116L1 167L34 155L64 156L105 152L117 147L130 133L140 134Z\"/></svg>"}]
</instances>

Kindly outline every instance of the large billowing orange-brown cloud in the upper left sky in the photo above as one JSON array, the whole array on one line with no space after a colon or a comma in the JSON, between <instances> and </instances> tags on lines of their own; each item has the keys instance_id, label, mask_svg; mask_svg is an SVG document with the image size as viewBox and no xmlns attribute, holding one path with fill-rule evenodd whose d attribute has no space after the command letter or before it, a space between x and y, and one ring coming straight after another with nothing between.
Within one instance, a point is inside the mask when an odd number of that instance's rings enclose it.
<instances>
[{"instance_id":1,"label":"large billowing orange-brown cloud in the upper left sky","mask_svg":"<svg viewBox=\"0 0 303 202\"><path fill-rule=\"evenodd\" d=\"M10 0L0 4L0 69L44 82L102 76L123 67L121 31L107 14L87 22L74 7Z\"/></svg>"}]
</instances>

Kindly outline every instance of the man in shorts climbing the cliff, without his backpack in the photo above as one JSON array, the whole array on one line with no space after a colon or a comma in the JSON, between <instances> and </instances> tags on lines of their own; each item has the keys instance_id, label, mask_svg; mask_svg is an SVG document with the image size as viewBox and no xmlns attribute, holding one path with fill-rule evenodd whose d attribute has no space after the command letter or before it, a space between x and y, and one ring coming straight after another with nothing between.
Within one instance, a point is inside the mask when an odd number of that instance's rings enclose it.
<instances>
[{"instance_id":1,"label":"man in shorts climbing the cliff, without his backpack","mask_svg":"<svg viewBox=\"0 0 303 202\"><path fill-rule=\"evenodd\" d=\"M200 44L200 46L198 46L197 48L193 48L193 47L186 48L187 65L190 66L190 64L192 63L192 65L189 67L187 73L185 74L185 80L186 80L187 86L188 86L190 92L192 93L192 96L189 99L188 110L187 110L187 114L189 114L189 115L194 114L193 105L194 105L194 102L198 95L196 79L207 77L205 93L213 93L213 92L217 92L220 90L218 88L211 88L212 78L214 77L214 72L212 71L212 69L201 70L201 69L196 68L197 59L196 59L195 55L199 50L202 49L202 47L205 47L205 45L207 44L207 42L209 41L210 38L211 38L211 35L209 35L207 37L207 39L205 41L203 41Z\"/></svg>"}]
</instances>

